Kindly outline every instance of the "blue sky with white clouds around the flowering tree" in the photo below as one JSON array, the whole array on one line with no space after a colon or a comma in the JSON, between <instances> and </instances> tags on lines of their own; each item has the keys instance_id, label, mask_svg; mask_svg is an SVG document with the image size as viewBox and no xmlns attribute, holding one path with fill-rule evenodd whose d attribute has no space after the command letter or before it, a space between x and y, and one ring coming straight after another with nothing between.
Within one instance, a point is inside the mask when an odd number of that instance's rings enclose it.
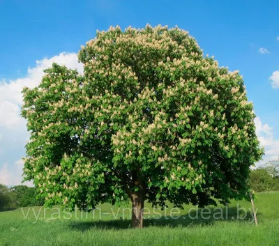
<instances>
[{"instance_id":1,"label":"blue sky with white clouds around the flowering tree","mask_svg":"<svg viewBox=\"0 0 279 246\"><path fill-rule=\"evenodd\" d=\"M52 62L82 72L81 45L110 26L162 24L190 32L204 54L239 70L266 155L279 155L279 1L0 0L0 183L22 182L29 133L22 87L40 83ZM26 183L32 185L31 182Z\"/></svg>"}]
</instances>

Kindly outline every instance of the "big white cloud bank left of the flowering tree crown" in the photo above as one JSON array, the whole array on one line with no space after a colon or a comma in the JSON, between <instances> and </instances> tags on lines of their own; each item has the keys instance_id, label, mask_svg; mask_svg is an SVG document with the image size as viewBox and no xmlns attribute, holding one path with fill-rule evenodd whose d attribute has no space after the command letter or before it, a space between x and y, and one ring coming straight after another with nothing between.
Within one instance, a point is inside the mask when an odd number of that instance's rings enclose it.
<instances>
[{"instance_id":1,"label":"big white cloud bank left of the flowering tree crown","mask_svg":"<svg viewBox=\"0 0 279 246\"><path fill-rule=\"evenodd\" d=\"M26 121L20 117L21 91L24 86L33 88L38 85L43 70L50 68L54 62L83 72L82 63L77 62L77 54L63 52L50 59L36 61L34 68L28 68L26 77L9 81L2 79L0 82L0 183L19 185L22 181L21 157L24 156L29 134Z\"/></svg>"}]
</instances>

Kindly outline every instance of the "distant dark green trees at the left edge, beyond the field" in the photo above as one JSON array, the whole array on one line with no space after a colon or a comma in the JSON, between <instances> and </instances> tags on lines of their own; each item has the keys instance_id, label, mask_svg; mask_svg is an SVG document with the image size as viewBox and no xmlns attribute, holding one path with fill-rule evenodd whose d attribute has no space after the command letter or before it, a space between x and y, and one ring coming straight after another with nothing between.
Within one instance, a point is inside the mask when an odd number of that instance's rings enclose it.
<instances>
[{"instance_id":1,"label":"distant dark green trees at the left edge, beyond the field","mask_svg":"<svg viewBox=\"0 0 279 246\"><path fill-rule=\"evenodd\" d=\"M43 206L45 199L42 197L37 199L36 197L36 187L16 185L9 188L0 184L0 210Z\"/></svg>"}]
</instances>

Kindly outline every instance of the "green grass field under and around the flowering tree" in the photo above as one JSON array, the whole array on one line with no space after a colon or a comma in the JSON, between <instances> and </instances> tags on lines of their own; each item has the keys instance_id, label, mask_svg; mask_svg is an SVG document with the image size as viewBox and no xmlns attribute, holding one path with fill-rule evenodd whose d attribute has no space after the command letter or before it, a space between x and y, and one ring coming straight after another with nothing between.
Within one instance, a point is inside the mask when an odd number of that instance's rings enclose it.
<instances>
[{"instance_id":1,"label":"green grass field under and around the flowering tree","mask_svg":"<svg viewBox=\"0 0 279 246\"><path fill-rule=\"evenodd\" d=\"M59 207L24 208L24 213L17 209L0 213L0 245L279 245L279 192L260 193L258 197L259 226L251 223L247 201L232 201L227 209L220 206L219 210L185 206L179 213L171 213L170 205L160 211L161 215L146 204L149 219L146 227L138 230L130 229L128 210L109 204L94 214L65 214ZM223 220L214 220L213 212Z\"/></svg>"}]
</instances>

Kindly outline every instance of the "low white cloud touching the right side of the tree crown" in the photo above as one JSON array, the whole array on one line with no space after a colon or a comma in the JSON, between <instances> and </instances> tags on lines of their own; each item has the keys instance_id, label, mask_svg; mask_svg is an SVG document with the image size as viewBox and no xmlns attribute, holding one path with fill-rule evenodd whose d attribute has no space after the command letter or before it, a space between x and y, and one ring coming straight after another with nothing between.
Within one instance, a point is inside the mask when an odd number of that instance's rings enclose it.
<instances>
[{"instance_id":1,"label":"low white cloud touching the right side of the tree crown","mask_svg":"<svg viewBox=\"0 0 279 246\"><path fill-rule=\"evenodd\" d=\"M269 160L277 159L279 155L279 139L274 137L273 128L267 124L263 124L259 117L255 118L256 133L259 142L265 149L265 155L258 164L264 164Z\"/></svg>"}]
</instances>

